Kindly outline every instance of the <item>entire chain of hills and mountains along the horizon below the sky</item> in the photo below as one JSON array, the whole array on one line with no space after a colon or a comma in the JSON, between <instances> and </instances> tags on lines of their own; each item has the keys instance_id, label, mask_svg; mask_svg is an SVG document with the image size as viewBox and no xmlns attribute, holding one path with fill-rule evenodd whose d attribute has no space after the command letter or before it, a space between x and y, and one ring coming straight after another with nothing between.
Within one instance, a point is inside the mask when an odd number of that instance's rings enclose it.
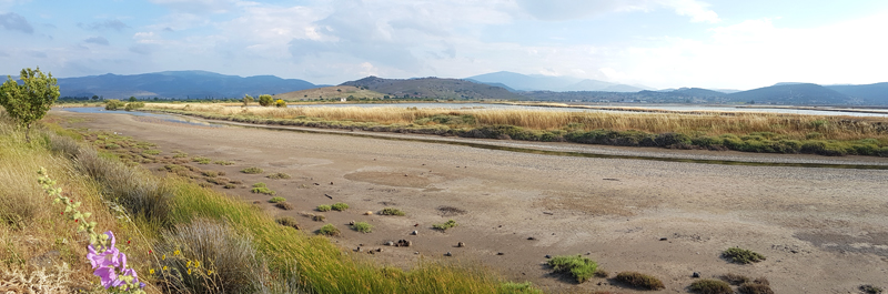
<instances>
[{"instance_id":1,"label":"entire chain of hills and mountains along the horizon below the sky","mask_svg":"<svg viewBox=\"0 0 888 294\"><path fill-rule=\"evenodd\" d=\"M274 75L238 77L206 71L164 71L118 75L102 74L58 79L62 97L129 97L162 99L223 99L244 94L282 94L316 89L311 82ZM794 105L888 105L888 82L875 84L834 84L785 82L748 91L700 88L652 91L643 85L627 85L595 80L501 71L466 79L383 79L367 77L341 85L360 88L389 97L433 99L496 99L584 102L648 103L766 103ZM333 89L330 91L342 90ZM329 91L327 91L329 92ZM320 91L300 93L303 98L335 95ZM327 93L327 94L324 94ZM357 92L355 92L357 93ZM340 91L336 91L340 94ZM363 94L361 94L363 95ZM367 95L373 95L367 94ZM355 95L357 97L357 95Z\"/></svg>"}]
</instances>

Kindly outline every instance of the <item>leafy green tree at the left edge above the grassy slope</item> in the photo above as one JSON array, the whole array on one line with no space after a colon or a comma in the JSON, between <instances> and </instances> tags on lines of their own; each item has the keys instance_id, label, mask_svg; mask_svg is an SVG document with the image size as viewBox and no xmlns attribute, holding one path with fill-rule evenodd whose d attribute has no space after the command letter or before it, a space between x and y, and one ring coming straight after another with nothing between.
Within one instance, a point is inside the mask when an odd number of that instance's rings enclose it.
<instances>
[{"instance_id":1,"label":"leafy green tree at the left edge above the grassy slope","mask_svg":"<svg viewBox=\"0 0 888 294\"><path fill-rule=\"evenodd\" d=\"M22 84L7 75L7 81L0 87L0 105L7 110L9 116L26 128L24 140L31 142L31 124L47 115L47 111L61 94L52 73L43 74L37 70L22 69L19 79Z\"/></svg>"}]
</instances>

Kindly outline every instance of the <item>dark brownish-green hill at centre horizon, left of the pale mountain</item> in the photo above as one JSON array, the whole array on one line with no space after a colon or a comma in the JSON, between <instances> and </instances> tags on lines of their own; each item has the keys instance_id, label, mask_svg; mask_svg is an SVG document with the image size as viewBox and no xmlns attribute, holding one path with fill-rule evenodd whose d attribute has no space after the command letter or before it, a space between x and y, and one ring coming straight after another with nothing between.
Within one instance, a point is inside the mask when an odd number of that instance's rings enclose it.
<instances>
[{"instance_id":1,"label":"dark brownish-green hill at centre horizon, left of the pale mountain","mask_svg":"<svg viewBox=\"0 0 888 294\"><path fill-rule=\"evenodd\" d=\"M340 85L363 88L397 98L522 99L521 95L509 92L505 88L458 79L420 78L402 80L367 77L357 81L344 82Z\"/></svg>"}]
</instances>

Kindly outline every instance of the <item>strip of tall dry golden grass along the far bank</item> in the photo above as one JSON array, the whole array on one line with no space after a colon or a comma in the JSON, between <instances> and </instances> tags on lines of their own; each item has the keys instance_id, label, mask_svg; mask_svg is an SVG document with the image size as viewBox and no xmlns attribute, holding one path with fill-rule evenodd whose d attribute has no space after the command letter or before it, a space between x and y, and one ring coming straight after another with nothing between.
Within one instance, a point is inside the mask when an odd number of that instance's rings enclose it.
<instances>
[{"instance_id":1,"label":"strip of tall dry golden grass along the far bank","mask_svg":"<svg viewBox=\"0 0 888 294\"><path fill-rule=\"evenodd\" d=\"M225 108L205 104L152 104L157 110L184 110L221 115L245 115L269 119L315 119L325 121L412 124L436 115L471 115L474 124L514 125L531 130L614 130L648 133L684 133L688 135L750 134L768 132L789 139L810 135L825 140L861 140L888 136L888 120L866 116L821 116L754 112L630 113L568 112L553 110L490 109L407 109L407 108ZM435 124L426 122L425 124Z\"/></svg>"}]
</instances>

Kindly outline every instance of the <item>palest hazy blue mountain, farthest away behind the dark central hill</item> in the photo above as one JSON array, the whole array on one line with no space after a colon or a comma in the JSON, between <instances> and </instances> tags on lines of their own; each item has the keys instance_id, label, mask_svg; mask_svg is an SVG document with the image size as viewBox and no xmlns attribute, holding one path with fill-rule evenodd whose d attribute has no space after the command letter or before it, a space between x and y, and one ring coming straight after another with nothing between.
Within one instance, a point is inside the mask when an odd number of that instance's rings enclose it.
<instances>
[{"instance_id":1,"label":"palest hazy blue mountain, farthest away behind the dark central hill","mask_svg":"<svg viewBox=\"0 0 888 294\"><path fill-rule=\"evenodd\" d=\"M627 85L596 80L582 80L569 77L548 77L542 74L521 74L508 71L485 73L465 78L465 80L491 85L505 85L511 91L603 91L603 92L638 92L654 90L644 85Z\"/></svg>"}]
</instances>

